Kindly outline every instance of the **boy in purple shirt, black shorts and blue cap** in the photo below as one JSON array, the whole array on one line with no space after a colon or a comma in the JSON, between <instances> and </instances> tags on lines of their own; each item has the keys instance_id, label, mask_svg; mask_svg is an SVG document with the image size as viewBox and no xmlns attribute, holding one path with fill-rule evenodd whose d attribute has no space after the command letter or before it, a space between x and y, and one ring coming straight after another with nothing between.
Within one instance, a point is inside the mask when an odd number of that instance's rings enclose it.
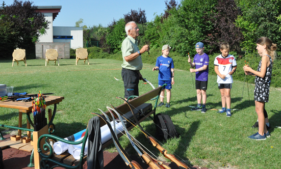
<instances>
[{"instance_id":1,"label":"boy in purple shirt, black shorts and blue cap","mask_svg":"<svg viewBox=\"0 0 281 169\"><path fill-rule=\"evenodd\" d=\"M197 54L195 54L193 62L188 58L190 64L190 72L196 72L195 86L197 92L197 107L191 110L201 110L201 112L206 112L206 101L207 101L207 86L208 86L208 74L209 74L209 55L204 53L204 44L198 42L195 45ZM194 68L195 69L192 69ZM201 105L202 100L202 105Z\"/></svg>"}]
</instances>

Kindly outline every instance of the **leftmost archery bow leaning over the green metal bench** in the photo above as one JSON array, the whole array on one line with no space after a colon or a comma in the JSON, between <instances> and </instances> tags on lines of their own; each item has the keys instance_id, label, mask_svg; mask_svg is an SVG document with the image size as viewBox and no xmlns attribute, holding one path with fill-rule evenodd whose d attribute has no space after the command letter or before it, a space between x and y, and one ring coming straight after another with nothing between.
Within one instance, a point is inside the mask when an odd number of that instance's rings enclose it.
<instances>
[{"instance_id":1,"label":"leftmost archery bow leaning over the green metal bench","mask_svg":"<svg viewBox=\"0 0 281 169\"><path fill-rule=\"evenodd\" d=\"M108 125L108 128L110 129L113 143L114 143L118 153L120 154L120 156L122 157L122 159L126 163L126 165L129 166L130 168L133 168L133 169L142 169L136 161L132 161L130 156L127 155L125 150L121 147L120 143L118 142L117 137L115 136L115 134L113 134L114 131L112 130L111 124L105 119L105 117L103 117L103 116L101 116L101 115L99 115L95 112L92 112L92 114L97 115L99 118L103 119L106 122L106 124Z\"/></svg>"}]
</instances>

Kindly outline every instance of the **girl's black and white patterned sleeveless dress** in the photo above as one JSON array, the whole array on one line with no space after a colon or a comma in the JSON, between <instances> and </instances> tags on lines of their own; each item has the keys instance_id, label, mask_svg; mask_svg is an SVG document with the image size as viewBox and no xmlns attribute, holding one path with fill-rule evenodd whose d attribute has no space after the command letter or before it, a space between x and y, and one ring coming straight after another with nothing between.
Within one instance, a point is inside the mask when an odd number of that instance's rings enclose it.
<instances>
[{"instance_id":1,"label":"girl's black and white patterned sleeveless dress","mask_svg":"<svg viewBox=\"0 0 281 169\"><path fill-rule=\"evenodd\" d=\"M266 68L265 77L261 78L259 76L256 76L256 79L254 80L255 87L254 87L254 100L260 101L260 102L268 102L269 97L269 88L270 88L270 82L271 82L271 75L272 75L272 60L270 55L267 55L270 60L269 66ZM259 63L257 71L261 71L262 66L262 60Z\"/></svg>"}]
</instances>

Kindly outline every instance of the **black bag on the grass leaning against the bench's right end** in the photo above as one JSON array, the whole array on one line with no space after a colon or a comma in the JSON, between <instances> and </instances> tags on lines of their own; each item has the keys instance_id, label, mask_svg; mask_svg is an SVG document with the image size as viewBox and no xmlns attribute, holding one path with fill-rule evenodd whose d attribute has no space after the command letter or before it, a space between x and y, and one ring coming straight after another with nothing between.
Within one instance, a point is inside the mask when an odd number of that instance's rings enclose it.
<instances>
[{"instance_id":1,"label":"black bag on the grass leaning against the bench's right end","mask_svg":"<svg viewBox=\"0 0 281 169\"><path fill-rule=\"evenodd\" d=\"M157 114L154 118L154 123L156 126L156 137L158 139L167 140L171 137L180 136L169 115Z\"/></svg>"}]
</instances>

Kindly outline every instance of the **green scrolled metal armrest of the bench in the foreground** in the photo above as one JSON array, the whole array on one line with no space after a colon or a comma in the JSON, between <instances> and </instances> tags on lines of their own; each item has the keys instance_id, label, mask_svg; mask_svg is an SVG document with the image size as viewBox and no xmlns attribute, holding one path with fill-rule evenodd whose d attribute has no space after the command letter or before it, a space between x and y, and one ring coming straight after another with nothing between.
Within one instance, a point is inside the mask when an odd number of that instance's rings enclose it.
<instances>
[{"instance_id":1,"label":"green scrolled metal armrest of the bench in the foreground","mask_svg":"<svg viewBox=\"0 0 281 169\"><path fill-rule=\"evenodd\" d=\"M85 144L86 144L87 138L88 138L88 129L86 130L84 138L82 140L80 140L79 142L72 142L72 141L60 138L58 136L55 136L55 135L50 135L50 134L43 134L43 135L41 135L39 137L38 143L37 143L38 144L38 153L39 153L39 155L41 157L40 168L43 168L43 169L53 169L55 167L64 167L64 168L69 168L69 169L74 169L74 168L83 169L83 164L84 164L83 158L85 157L84 151L85 151ZM61 141L63 143L67 143L67 144L70 144L70 145L79 145L79 144L82 143L79 163L77 165L75 165L75 166L72 166L72 165L61 163L61 162L59 162L57 160L52 159L53 158L53 154L54 154L54 150L53 150L52 146L49 144L48 139L54 139L56 142L59 140L59 141ZM43 142L43 140L45 141L45 143L43 145L43 149L45 151L49 151L50 152L49 155L46 155L46 154L42 153L42 150L40 148L40 142L41 141ZM55 163L55 165L50 167L49 164L47 164L48 161Z\"/></svg>"}]
</instances>

